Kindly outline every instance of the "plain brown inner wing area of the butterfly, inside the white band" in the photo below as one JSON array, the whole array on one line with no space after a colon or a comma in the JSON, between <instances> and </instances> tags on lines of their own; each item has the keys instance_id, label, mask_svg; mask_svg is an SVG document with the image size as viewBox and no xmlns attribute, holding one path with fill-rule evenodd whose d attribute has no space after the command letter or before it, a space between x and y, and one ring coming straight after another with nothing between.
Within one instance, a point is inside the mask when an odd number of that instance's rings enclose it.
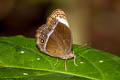
<instances>
[{"instance_id":1,"label":"plain brown inner wing area of the butterfly, inside the white band","mask_svg":"<svg viewBox=\"0 0 120 80\"><path fill-rule=\"evenodd\" d=\"M71 52L71 47L71 31L66 25L59 22L49 37L46 50L51 56L64 58Z\"/></svg>"}]
</instances>

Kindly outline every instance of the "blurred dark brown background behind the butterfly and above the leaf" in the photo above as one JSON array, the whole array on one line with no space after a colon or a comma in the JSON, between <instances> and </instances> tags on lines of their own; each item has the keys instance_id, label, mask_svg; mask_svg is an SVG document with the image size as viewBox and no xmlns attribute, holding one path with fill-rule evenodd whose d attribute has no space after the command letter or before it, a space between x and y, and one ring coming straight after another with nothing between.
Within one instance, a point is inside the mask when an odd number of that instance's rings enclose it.
<instances>
[{"instance_id":1,"label":"blurred dark brown background behind the butterfly and above the leaf","mask_svg":"<svg viewBox=\"0 0 120 80\"><path fill-rule=\"evenodd\" d=\"M120 0L0 0L0 36L34 38L36 29L56 8L70 16L73 36L79 38L84 26L92 47L120 56ZM77 24L80 26L75 27ZM74 43L79 41L74 39Z\"/></svg>"}]
</instances>

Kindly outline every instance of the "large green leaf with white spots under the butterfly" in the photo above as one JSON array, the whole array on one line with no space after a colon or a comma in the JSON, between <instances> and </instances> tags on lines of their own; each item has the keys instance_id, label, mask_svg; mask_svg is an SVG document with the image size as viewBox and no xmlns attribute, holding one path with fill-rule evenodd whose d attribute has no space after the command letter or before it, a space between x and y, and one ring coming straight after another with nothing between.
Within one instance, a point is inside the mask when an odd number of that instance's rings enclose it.
<instances>
[{"instance_id":1,"label":"large green leaf with white spots under the butterfly","mask_svg":"<svg viewBox=\"0 0 120 80\"><path fill-rule=\"evenodd\" d=\"M118 56L79 45L73 45L73 51L78 66L74 65L73 59L67 60L65 71L64 60L59 59L54 66L56 58L41 53L35 39L23 36L1 37L0 80L120 80ZM12 69L4 70L3 67ZM24 71L28 74L25 77Z\"/></svg>"}]
</instances>

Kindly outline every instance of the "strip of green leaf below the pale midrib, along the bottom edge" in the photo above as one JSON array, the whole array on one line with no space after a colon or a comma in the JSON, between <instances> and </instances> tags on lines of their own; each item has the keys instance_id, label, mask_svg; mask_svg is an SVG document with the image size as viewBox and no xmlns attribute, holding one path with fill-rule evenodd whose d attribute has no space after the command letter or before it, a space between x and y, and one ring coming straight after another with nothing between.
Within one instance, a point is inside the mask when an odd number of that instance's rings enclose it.
<instances>
[{"instance_id":1,"label":"strip of green leaf below the pale midrib, along the bottom edge","mask_svg":"<svg viewBox=\"0 0 120 80\"><path fill-rule=\"evenodd\" d=\"M90 80L74 75L54 73L40 70L1 68L0 80ZM9 74L8 74L9 73ZM11 75L12 74L12 75Z\"/></svg>"}]
</instances>

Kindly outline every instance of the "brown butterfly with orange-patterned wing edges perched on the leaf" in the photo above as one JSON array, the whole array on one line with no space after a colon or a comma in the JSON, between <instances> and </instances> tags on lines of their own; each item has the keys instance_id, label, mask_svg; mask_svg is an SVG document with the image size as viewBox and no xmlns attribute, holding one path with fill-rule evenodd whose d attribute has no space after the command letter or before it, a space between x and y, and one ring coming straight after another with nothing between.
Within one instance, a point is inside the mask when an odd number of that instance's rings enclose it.
<instances>
[{"instance_id":1,"label":"brown butterfly with orange-patterned wing edges perched on the leaf","mask_svg":"<svg viewBox=\"0 0 120 80\"><path fill-rule=\"evenodd\" d=\"M72 33L63 10L56 9L53 11L46 24L38 28L36 44L43 53L64 59L65 70L67 59L74 57L74 64L76 65L75 55L72 51Z\"/></svg>"}]
</instances>

